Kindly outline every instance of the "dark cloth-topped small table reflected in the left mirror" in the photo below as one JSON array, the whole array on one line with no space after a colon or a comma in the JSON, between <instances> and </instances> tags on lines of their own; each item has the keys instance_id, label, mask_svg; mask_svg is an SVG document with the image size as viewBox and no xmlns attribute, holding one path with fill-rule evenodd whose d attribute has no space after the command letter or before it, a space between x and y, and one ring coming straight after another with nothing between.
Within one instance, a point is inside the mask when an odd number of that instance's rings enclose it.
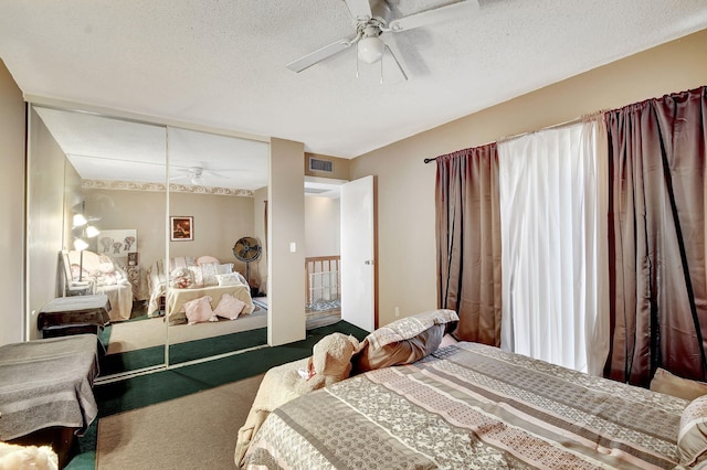
<instances>
[{"instance_id":1,"label":"dark cloth-topped small table reflected in the left mirror","mask_svg":"<svg viewBox=\"0 0 707 470\"><path fill-rule=\"evenodd\" d=\"M93 296L60 297L40 309L36 325L43 338L68 334L98 334L110 323L110 302L105 293Z\"/></svg>"}]
</instances>

